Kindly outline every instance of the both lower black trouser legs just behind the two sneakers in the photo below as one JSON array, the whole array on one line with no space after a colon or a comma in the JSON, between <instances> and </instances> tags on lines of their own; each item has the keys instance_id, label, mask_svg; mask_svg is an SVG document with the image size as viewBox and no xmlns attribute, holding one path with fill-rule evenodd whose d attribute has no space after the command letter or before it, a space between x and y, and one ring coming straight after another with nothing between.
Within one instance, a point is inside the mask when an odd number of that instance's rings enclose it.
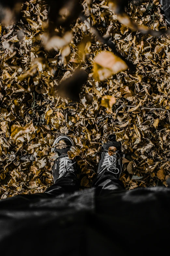
<instances>
[{"instance_id":1,"label":"both lower black trouser legs just behind the two sneakers","mask_svg":"<svg viewBox=\"0 0 170 256\"><path fill-rule=\"evenodd\" d=\"M96 196L105 196L113 191L124 189L123 183L108 171L99 174L93 180L92 187L96 188ZM45 193L61 195L76 190L79 190L78 179L73 174L66 174L64 177L57 179Z\"/></svg>"}]
</instances>

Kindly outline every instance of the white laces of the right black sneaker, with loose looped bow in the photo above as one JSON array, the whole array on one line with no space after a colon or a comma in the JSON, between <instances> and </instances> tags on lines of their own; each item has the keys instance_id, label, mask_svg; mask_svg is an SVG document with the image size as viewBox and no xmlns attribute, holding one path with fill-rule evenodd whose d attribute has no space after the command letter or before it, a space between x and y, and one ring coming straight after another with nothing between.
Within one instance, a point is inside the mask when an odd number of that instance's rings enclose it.
<instances>
[{"instance_id":1,"label":"white laces of the right black sneaker, with loose looped bow","mask_svg":"<svg viewBox=\"0 0 170 256\"><path fill-rule=\"evenodd\" d=\"M102 163L102 166L101 166L102 168L103 167L104 168L101 172L103 172L104 170L107 169L107 171L109 171L113 174L118 174L120 172L120 170L116 167L116 158L117 158L116 154L113 155L113 156L109 156L109 154L106 153L105 158L104 158L103 163ZM115 172L113 172L114 169L115 169ZM118 170L117 172L116 172L116 169Z\"/></svg>"}]
</instances>

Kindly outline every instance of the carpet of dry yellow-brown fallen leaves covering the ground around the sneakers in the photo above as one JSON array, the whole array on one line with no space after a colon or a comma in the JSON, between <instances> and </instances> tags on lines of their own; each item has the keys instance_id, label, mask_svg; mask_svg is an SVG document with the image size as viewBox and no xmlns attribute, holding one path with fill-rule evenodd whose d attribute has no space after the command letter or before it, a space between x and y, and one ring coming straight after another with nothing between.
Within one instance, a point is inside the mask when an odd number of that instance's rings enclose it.
<instances>
[{"instance_id":1,"label":"carpet of dry yellow-brown fallen leaves covering the ground around the sneakers","mask_svg":"<svg viewBox=\"0 0 170 256\"><path fill-rule=\"evenodd\" d=\"M156 186L157 180L167 186L170 36L155 38L122 25L108 1L94 0L91 8L82 1L82 7L87 19L78 19L64 35L49 37L47 5L38 0L22 5L20 22L2 27L1 198L43 192L53 183L57 156L50 150L61 133L76 145L69 156L77 156L81 188L91 186L102 143L112 133L126 153L120 179L127 189ZM166 29L158 0L130 3L126 13L139 25ZM135 72L96 37L90 24L110 37L135 64ZM58 85L63 82L64 88L78 68L82 87L74 91L73 79L70 91L75 100L59 96Z\"/></svg>"}]
</instances>

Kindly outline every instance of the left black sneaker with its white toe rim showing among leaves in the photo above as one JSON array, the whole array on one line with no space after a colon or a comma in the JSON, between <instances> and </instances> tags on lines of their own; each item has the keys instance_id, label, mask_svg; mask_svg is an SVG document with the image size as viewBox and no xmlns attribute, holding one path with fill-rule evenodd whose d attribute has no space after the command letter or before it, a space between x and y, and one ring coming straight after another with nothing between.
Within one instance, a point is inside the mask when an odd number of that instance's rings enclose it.
<instances>
[{"instance_id":1,"label":"left black sneaker with its white toe rim showing among leaves","mask_svg":"<svg viewBox=\"0 0 170 256\"><path fill-rule=\"evenodd\" d=\"M51 152L57 152L59 155L52 167L54 182L68 173L74 174L77 178L76 161L69 159L67 154L71 146L74 146L74 142L68 136L59 136L52 145Z\"/></svg>"}]
</instances>

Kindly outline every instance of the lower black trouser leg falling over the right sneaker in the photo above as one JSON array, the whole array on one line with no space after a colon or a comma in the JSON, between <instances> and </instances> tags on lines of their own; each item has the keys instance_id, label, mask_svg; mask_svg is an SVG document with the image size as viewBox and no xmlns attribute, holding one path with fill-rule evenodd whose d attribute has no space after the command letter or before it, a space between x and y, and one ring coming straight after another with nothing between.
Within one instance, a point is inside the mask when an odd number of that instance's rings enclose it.
<instances>
[{"instance_id":1,"label":"lower black trouser leg falling over the right sneaker","mask_svg":"<svg viewBox=\"0 0 170 256\"><path fill-rule=\"evenodd\" d=\"M108 171L99 174L93 180L92 186L96 187L96 196L105 196L114 191L125 189L121 180Z\"/></svg>"}]
</instances>

